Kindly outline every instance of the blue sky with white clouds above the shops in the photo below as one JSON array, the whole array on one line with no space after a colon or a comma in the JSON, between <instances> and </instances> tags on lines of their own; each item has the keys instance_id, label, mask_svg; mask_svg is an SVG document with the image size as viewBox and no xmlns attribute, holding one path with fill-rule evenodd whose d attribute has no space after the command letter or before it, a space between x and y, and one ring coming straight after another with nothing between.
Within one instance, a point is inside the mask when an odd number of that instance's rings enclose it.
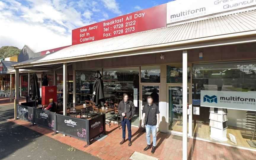
<instances>
[{"instance_id":1,"label":"blue sky with white clouds above the shops","mask_svg":"<svg viewBox=\"0 0 256 160\"><path fill-rule=\"evenodd\" d=\"M71 45L73 29L172 0L0 0L0 47Z\"/></svg>"}]
</instances>

